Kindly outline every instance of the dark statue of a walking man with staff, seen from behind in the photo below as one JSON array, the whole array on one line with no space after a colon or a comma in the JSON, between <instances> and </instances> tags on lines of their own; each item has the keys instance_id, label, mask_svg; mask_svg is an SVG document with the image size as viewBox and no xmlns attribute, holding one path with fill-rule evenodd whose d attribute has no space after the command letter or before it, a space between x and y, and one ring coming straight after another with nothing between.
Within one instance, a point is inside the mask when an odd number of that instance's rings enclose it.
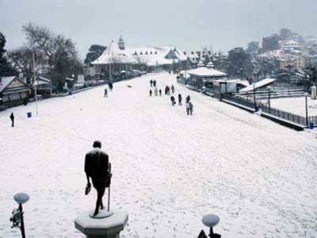
<instances>
[{"instance_id":1,"label":"dark statue of a walking man with staff, seen from behind","mask_svg":"<svg viewBox=\"0 0 317 238\"><path fill-rule=\"evenodd\" d=\"M110 181L111 181L111 164L109 163L108 155L101 150L101 142L95 141L93 149L89 151L85 156L85 173L87 177L86 195L91 188L90 178L94 188L97 190L97 202L95 212L93 214L96 217L99 213L99 208L104 209L103 196L105 194L106 187L109 188L108 192L108 211L110 200Z\"/></svg>"}]
</instances>

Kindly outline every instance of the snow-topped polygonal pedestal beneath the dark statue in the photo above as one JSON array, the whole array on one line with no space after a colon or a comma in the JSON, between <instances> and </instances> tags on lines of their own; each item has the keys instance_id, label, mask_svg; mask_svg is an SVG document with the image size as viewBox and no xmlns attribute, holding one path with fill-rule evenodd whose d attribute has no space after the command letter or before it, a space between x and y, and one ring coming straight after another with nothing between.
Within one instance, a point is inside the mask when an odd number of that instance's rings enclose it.
<instances>
[{"instance_id":1,"label":"snow-topped polygonal pedestal beneath the dark statue","mask_svg":"<svg viewBox=\"0 0 317 238\"><path fill-rule=\"evenodd\" d=\"M112 210L113 214L106 218L91 218L89 213L84 211L75 219L75 228L87 236L87 238L119 238L128 222L126 211Z\"/></svg>"}]
</instances>

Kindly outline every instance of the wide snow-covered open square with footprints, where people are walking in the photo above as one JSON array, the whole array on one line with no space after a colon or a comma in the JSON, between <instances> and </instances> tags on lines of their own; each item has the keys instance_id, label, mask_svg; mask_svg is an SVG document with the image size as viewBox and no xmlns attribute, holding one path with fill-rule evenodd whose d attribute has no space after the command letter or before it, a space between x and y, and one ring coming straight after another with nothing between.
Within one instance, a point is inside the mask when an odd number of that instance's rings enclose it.
<instances>
[{"instance_id":1,"label":"wide snow-covered open square with footprints, where people are walking","mask_svg":"<svg viewBox=\"0 0 317 238\"><path fill-rule=\"evenodd\" d=\"M149 80L191 95L194 115ZM127 87L131 85L132 88ZM12 196L27 192L27 237L83 237L73 221L95 205L84 195L84 155L95 139L112 163L111 206L129 212L122 237L195 238L202 216L220 216L225 238L317 237L317 141L176 84L167 74L0 112L0 238L18 237ZM304 108L303 101L303 108ZM10 127L14 112L16 126ZM106 199L106 197L105 197Z\"/></svg>"}]
</instances>

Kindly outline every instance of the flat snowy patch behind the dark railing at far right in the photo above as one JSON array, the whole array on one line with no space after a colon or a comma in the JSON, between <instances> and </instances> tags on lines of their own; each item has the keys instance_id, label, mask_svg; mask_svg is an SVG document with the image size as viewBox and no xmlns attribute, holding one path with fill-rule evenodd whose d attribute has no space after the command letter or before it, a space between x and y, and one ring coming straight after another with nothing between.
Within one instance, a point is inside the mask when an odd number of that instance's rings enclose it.
<instances>
[{"instance_id":1,"label":"flat snowy patch behind the dark railing at far right","mask_svg":"<svg viewBox=\"0 0 317 238\"><path fill-rule=\"evenodd\" d=\"M317 100L307 98L308 115L317 116ZM305 97L279 98L271 100L271 107L306 117Z\"/></svg>"}]
</instances>

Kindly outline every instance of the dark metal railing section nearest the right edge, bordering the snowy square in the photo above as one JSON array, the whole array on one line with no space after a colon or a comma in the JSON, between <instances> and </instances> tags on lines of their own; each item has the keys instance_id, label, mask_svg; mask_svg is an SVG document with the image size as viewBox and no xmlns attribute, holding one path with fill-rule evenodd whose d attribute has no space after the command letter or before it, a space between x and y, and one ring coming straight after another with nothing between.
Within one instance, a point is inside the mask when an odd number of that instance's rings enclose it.
<instances>
[{"instance_id":1,"label":"dark metal railing section nearest the right edge, bordering the snowy square","mask_svg":"<svg viewBox=\"0 0 317 238\"><path fill-rule=\"evenodd\" d=\"M288 120L288 121L291 121L293 123L304 125L304 126L307 125L306 117L299 116L299 115L289 113L289 112L285 112L285 111L282 111L282 110L279 110L276 108L271 108L271 107L268 107L264 104L262 104L261 107L262 107L262 112L270 114L274 117ZM315 122L317 121L317 117L309 117L309 118L315 119Z\"/></svg>"}]
</instances>

